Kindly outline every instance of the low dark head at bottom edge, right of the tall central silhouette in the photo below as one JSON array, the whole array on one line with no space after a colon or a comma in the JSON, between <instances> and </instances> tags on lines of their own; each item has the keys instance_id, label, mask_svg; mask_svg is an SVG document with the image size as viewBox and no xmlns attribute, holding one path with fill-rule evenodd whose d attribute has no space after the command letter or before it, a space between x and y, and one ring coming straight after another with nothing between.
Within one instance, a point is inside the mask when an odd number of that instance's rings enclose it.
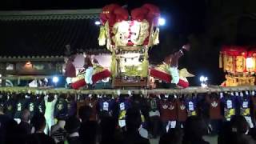
<instances>
[{"instance_id":1,"label":"low dark head at bottom edge, right of the tall central silhouette","mask_svg":"<svg viewBox=\"0 0 256 144\"><path fill-rule=\"evenodd\" d=\"M183 132L181 129L175 128L163 134L159 140L159 144L182 144Z\"/></svg>"}]
</instances>

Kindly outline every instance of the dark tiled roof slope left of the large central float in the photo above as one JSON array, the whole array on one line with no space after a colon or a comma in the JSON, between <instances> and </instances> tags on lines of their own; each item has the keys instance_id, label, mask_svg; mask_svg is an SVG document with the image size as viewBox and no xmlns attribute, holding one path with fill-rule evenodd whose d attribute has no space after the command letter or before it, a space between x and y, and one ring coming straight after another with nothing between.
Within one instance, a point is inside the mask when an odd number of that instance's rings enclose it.
<instances>
[{"instance_id":1,"label":"dark tiled roof slope left of the large central float","mask_svg":"<svg viewBox=\"0 0 256 144\"><path fill-rule=\"evenodd\" d=\"M95 19L0 20L0 56L64 55L71 50L104 52Z\"/></svg>"}]
</instances>

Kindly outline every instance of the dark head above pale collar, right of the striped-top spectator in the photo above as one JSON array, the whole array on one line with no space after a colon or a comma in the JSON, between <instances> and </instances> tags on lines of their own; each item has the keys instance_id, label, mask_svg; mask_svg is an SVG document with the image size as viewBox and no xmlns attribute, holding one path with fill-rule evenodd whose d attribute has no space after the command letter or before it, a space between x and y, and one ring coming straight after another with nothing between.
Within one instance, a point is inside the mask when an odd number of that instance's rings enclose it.
<instances>
[{"instance_id":1,"label":"dark head above pale collar, right of the striped-top spectator","mask_svg":"<svg viewBox=\"0 0 256 144\"><path fill-rule=\"evenodd\" d=\"M66 119L65 130L68 134L72 134L74 132L78 132L80 128L80 121L77 117L73 116Z\"/></svg>"}]
</instances>

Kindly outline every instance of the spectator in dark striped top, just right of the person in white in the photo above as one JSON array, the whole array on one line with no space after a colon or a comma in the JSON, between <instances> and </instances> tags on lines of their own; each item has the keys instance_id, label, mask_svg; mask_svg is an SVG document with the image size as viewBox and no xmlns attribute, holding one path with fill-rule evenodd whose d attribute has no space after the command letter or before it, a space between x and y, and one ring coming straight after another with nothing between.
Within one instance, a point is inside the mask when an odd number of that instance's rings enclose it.
<instances>
[{"instance_id":1,"label":"spectator in dark striped top, just right of the person in white","mask_svg":"<svg viewBox=\"0 0 256 144\"><path fill-rule=\"evenodd\" d=\"M66 137L66 130L64 129L65 123L65 118L58 118L57 124L50 128L50 137L54 138L56 143L64 142Z\"/></svg>"}]
</instances>

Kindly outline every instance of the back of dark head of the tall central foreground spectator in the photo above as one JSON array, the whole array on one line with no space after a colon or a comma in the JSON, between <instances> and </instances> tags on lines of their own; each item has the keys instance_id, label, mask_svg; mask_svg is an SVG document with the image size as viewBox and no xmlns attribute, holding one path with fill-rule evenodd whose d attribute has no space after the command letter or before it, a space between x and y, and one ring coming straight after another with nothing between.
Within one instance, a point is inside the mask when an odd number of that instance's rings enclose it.
<instances>
[{"instance_id":1,"label":"back of dark head of the tall central foreground spectator","mask_svg":"<svg viewBox=\"0 0 256 144\"><path fill-rule=\"evenodd\" d=\"M130 108L126 112L126 128L127 130L138 130L142 124L141 113L137 108Z\"/></svg>"}]
</instances>

